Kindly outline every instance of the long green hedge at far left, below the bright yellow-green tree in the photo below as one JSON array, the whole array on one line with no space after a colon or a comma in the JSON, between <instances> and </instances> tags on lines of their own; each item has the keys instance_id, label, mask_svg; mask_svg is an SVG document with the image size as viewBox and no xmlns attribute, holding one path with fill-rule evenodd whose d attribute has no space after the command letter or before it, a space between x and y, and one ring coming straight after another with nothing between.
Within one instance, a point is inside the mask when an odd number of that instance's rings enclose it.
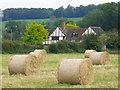
<instances>
[{"instance_id":1,"label":"long green hedge at far left, below the bright yellow-green tree","mask_svg":"<svg viewBox=\"0 0 120 90\"><path fill-rule=\"evenodd\" d=\"M43 46L42 45L33 46L17 41L11 41L5 39L2 40L2 53L9 53L9 54L29 53L37 48L43 48Z\"/></svg>"}]
</instances>

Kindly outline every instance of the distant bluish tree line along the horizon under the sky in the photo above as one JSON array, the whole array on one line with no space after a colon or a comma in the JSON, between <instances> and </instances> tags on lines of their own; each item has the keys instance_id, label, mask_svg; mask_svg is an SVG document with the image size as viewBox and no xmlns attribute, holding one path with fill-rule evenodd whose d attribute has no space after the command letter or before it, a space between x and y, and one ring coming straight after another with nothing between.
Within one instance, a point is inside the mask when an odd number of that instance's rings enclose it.
<instances>
[{"instance_id":1,"label":"distant bluish tree line along the horizon under the sky","mask_svg":"<svg viewBox=\"0 0 120 90\"><path fill-rule=\"evenodd\" d=\"M45 19L55 16L56 18L66 17L84 17L90 11L100 8L101 5L88 5L73 7L68 5L67 8L63 6L58 9L53 8L8 8L3 10L3 21L16 19Z\"/></svg>"}]
</instances>

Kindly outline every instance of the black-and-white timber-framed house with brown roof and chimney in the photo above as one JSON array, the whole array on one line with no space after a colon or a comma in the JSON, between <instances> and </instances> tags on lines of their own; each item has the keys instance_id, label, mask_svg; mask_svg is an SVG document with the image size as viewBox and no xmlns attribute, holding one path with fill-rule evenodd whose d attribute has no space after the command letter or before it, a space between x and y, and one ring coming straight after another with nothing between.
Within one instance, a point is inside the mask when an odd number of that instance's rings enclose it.
<instances>
[{"instance_id":1,"label":"black-and-white timber-framed house with brown roof and chimney","mask_svg":"<svg viewBox=\"0 0 120 90\"><path fill-rule=\"evenodd\" d=\"M104 32L101 27L88 27L88 28L67 28L65 23L62 23L62 27L56 29L48 29L49 39L43 44L52 44L60 40L67 40L71 42L83 41L83 36L88 34L98 34Z\"/></svg>"}]
</instances>

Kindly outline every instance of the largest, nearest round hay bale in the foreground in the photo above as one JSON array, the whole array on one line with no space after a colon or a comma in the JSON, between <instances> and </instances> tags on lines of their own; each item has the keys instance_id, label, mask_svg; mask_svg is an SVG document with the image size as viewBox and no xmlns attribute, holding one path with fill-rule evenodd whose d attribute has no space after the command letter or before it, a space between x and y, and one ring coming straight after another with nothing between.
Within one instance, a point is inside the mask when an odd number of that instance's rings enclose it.
<instances>
[{"instance_id":1,"label":"largest, nearest round hay bale in the foreground","mask_svg":"<svg viewBox=\"0 0 120 90\"><path fill-rule=\"evenodd\" d=\"M93 65L90 59L63 59L58 65L59 83L88 84L93 81Z\"/></svg>"}]
</instances>

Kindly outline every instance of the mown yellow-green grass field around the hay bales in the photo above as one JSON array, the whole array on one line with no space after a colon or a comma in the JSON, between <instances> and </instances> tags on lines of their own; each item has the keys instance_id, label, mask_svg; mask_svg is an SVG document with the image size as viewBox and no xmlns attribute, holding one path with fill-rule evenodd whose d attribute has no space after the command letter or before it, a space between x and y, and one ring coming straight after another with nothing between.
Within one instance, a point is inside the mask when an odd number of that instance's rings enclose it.
<instances>
[{"instance_id":1,"label":"mown yellow-green grass field around the hay bales","mask_svg":"<svg viewBox=\"0 0 120 90\"><path fill-rule=\"evenodd\" d=\"M94 65L94 81L87 85L57 82L57 66L61 59L80 59L84 54L48 54L40 64L38 76L9 75L8 62L14 54L2 55L3 88L118 88L118 54L111 54L109 65Z\"/></svg>"}]
</instances>

